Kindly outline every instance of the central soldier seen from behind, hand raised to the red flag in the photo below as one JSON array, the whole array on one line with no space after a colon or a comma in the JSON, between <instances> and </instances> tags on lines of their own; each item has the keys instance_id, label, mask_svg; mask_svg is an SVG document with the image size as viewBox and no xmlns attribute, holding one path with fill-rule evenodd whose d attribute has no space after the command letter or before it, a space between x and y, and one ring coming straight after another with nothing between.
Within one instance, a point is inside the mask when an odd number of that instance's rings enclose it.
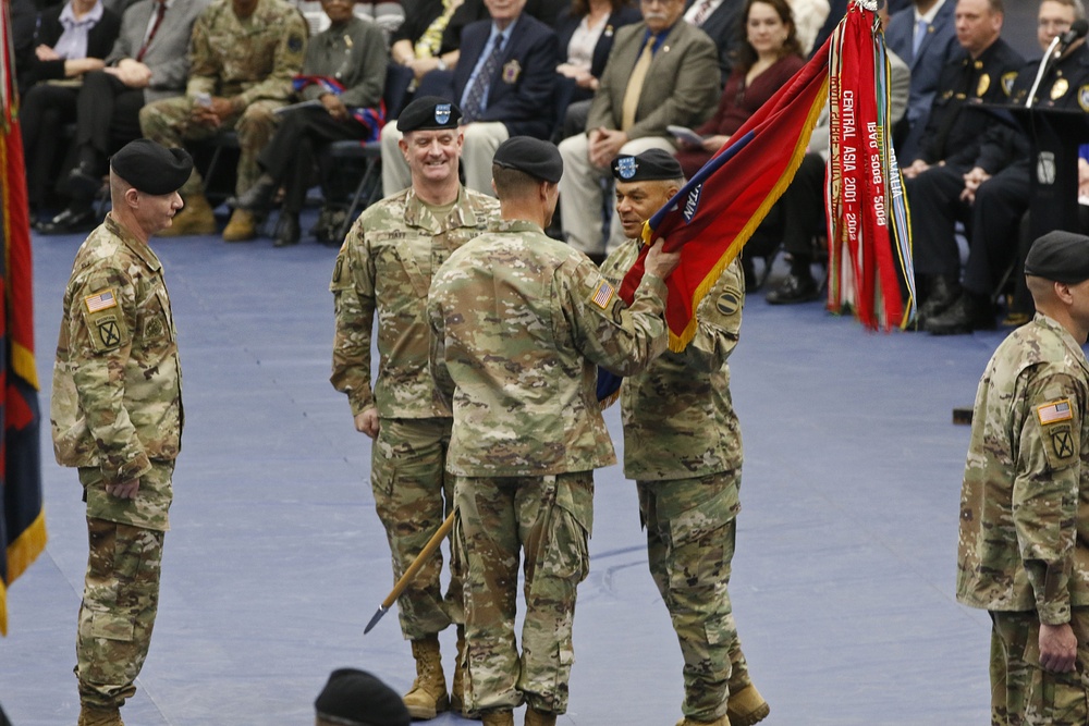
<instances>
[{"instance_id":1,"label":"central soldier seen from behind, hand raised to the red flag","mask_svg":"<svg viewBox=\"0 0 1089 726\"><path fill-rule=\"evenodd\" d=\"M666 341L662 279L677 255L650 251L626 308L589 258L542 231L562 171L555 146L504 141L492 164L502 221L450 256L428 296L431 371L454 416L446 471L466 561L465 698L485 726L513 726L523 702L528 726L567 709L594 469L615 462L595 364L634 374Z\"/></svg>"}]
</instances>

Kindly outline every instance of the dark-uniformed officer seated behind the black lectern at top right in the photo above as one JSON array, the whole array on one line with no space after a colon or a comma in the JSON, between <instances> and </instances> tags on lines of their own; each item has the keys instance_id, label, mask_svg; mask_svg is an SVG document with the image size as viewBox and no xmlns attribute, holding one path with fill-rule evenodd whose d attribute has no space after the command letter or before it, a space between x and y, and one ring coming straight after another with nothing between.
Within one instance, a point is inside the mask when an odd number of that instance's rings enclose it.
<instances>
[{"instance_id":1,"label":"dark-uniformed officer seated behind the black lectern at top right","mask_svg":"<svg viewBox=\"0 0 1089 726\"><path fill-rule=\"evenodd\" d=\"M1078 0L1043 0L1038 13L1037 40L1043 50L1056 36L1066 33L1075 20L1085 16ZM1025 104L1040 62L1028 63L1017 74L1010 93L1013 103ZM1087 93L1089 47L1082 38L1072 44L1048 69L1032 106L1084 113ZM927 332L959 335L994 327L991 300L1005 271L1017 258L1019 221L1032 199L1036 164L1031 148L1030 139L1019 126L994 126L989 130L971 169L959 177L940 177L945 180L944 185L928 187L927 196L919 199L921 211L943 224L946 245L953 237L952 226L957 219L965 223L968 237L960 294L946 310L923 318L922 328ZM914 214L914 199L911 204ZM927 249L923 247L925 251ZM1014 272L1024 276L1020 268Z\"/></svg>"}]
</instances>

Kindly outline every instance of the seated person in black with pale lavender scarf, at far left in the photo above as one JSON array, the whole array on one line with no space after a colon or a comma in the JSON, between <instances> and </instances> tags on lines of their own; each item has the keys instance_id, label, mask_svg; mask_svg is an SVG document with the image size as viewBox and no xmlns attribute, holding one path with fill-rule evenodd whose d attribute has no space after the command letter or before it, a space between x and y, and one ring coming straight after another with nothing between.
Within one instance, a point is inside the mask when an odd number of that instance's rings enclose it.
<instances>
[{"instance_id":1,"label":"seated person in black with pale lavender scarf, at far left","mask_svg":"<svg viewBox=\"0 0 1089 726\"><path fill-rule=\"evenodd\" d=\"M76 116L78 86L64 82L103 67L120 29L121 19L100 0L70 0L41 13L19 109L32 214L57 173L61 128Z\"/></svg>"}]
</instances>

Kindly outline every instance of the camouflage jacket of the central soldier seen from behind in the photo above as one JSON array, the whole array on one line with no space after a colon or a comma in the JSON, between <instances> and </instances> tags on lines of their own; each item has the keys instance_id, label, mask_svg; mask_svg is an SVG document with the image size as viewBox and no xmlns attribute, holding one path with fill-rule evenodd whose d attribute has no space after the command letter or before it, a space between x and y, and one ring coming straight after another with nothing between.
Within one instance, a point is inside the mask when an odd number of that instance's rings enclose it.
<instances>
[{"instance_id":1,"label":"camouflage jacket of the central soldier seen from behind","mask_svg":"<svg viewBox=\"0 0 1089 726\"><path fill-rule=\"evenodd\" d=\"M665 283L646 275L626 308L582 253L502 221L431 283L431 372L452 399L446 470L547 476L615 463L597 369L639 372L665 349Z\"/></svg>"}]
</instances>

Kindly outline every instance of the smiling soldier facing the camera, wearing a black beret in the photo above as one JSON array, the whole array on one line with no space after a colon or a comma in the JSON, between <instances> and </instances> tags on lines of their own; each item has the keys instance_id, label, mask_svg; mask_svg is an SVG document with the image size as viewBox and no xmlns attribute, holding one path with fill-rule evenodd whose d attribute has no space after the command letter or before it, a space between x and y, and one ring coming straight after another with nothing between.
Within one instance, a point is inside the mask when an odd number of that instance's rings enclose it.
<instances>
[{"instance_id":1,"label":"smiling soldier facing the camera, wearing a black beret","mask_svg":"<svg viewBox=\"0 0 1089 726\"><path fill-rule=\"evenodd\" d=\"M400 578L442 524L453 502L444 476L450 407L432 394L427 367L427 291L450 254L498 219L499 202L457 181L461 111L441 98L414 100L401 113L401 148L412 186L369 207L355 221L333 271L332 384L347 394L356 429L376 439L371 487ZM378 316L378 380L371 389L370 341ZM454 553L456 554L456 553ZM455 570L455 563L452 563ZM401 630L412 641L417 678L405 696L415 718L448 706L438 633L453 620L458 654L464 628L461 575L443 599L436 551L397 600ZM452 701L463 710L461 657Z\"/></svg>"}]
</instances>

